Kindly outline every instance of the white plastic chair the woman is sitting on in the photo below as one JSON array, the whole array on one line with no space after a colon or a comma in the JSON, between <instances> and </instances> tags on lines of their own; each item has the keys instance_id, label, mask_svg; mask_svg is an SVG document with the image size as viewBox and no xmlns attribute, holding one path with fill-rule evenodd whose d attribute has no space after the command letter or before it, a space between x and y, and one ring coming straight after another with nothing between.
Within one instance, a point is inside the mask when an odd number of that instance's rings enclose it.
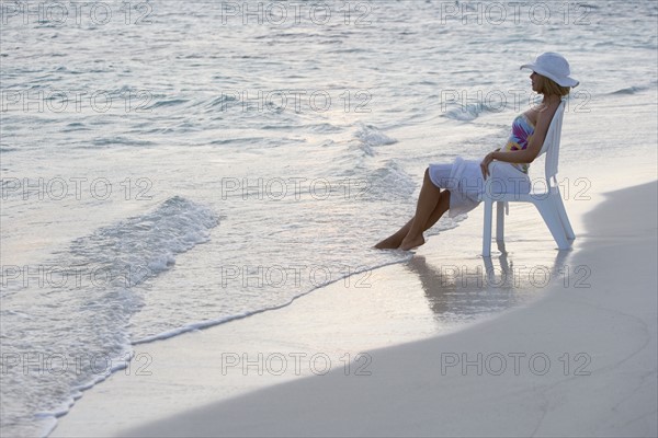
<instances>
[{"instance_id":1,"label":"white plastic chair the woman is sitting on","mask_svg":"<svg viewBox=\"0 0 658 438\"><path fill-rule=\"evenodd\" d=\"M497 204L496 242L498 243L499 250L503 253L504 209L508 207L506 205L507 203L517 201L534 204L560 250L569 249L576 239L576 234L574 234L574 229L571 228L571 223L569 223L569 218L567 217L567 211L565 210L565 205L563 204L561 194L559 193L559 187L555 177L557 174L559 139L561 134L563 117L565 114L565 105L566 103L563 101L556 110L553 120L551 120L548 132L546 132L546 139L544 140L542 150L537 155L540 157L543 153L546 153L545 191L531 192L529 194L495 193L491 187L492 178L487 178L487 182L485 183L485 193L480 197L485 204L483 256L491 256L491 217L494 212L494 203Z\"/></svg>"}]
</instances>

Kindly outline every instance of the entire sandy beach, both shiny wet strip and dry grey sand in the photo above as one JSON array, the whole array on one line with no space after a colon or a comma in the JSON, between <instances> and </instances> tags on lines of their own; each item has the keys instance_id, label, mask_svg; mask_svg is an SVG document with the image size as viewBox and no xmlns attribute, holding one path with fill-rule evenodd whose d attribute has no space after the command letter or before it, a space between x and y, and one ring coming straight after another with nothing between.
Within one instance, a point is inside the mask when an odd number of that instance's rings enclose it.
<instances>
[{"instance_id":1,"label":"entire sandy beach, both shiny wet strip and dry grey sand","mask_svg":"<svg viewBox=\"0 0 658 438\"><path fill-rule=\"evenodd\" d=\"M555 251L538 216L514 210L538 238L510 237L495 272L511 258L537 286L521 262L542 266L545 287L491 296L477 276L449 284L449 267L487 261L451 258L435 237L367 278L135 346L133 366L86 392L50 436L656 436L657 184L591 195L567 200L574 251ZM450 232L479 247L480 228L477 209ZM461 299L509 309L438 320Z\"/></svg>"}]
</instances>

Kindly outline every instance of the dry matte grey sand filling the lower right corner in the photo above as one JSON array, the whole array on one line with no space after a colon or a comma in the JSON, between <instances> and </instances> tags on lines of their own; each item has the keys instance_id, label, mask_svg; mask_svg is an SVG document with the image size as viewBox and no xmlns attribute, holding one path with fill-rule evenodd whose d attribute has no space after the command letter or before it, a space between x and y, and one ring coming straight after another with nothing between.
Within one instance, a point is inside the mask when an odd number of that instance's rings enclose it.
<instances>
[{"instance_id":1,"label":"dry matte grey sand filling the lower right corner","mask_svg":"<svg viewBox=\"0 0 658 438\"><path fill-rule=\"evenodd\" d=\"M655 436L656 188L613 192L586 217L575 261L592 287L554 287L504 318L372 350L367 377L337 370L120 436ZM620 226L628 212L633 227ZM638 255L633 283L614 272Z\"/></svg>"}]
</instances>

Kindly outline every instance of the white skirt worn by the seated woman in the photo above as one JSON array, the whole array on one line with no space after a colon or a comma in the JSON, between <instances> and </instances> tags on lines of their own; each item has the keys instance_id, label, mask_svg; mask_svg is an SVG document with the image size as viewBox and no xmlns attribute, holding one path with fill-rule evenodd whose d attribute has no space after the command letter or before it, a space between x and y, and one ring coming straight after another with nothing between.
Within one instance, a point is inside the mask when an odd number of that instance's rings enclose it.
<instances>
[{"instance_id":1,"label":"white skirt worn by the seated woman","mask_svg":"<svg viewBox=\"0 0 658 438\"><path fill-rule=\"evenodd\" d=\"M436 187L450 191L451 218L468 212L479 205L485 192L480 161L457 157L452 164L430 164L429 175ZM492 161L489 164L488 178L491 178L489 187L494 194L530 193L530 177L510 163Z\"/></svg>"}]
</instances>

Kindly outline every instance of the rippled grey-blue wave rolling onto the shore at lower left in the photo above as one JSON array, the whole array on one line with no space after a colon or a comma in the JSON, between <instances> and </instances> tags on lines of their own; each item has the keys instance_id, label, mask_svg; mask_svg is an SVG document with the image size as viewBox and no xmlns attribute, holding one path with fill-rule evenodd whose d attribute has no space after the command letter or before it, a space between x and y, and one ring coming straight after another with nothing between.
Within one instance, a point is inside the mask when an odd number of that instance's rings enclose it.
<instances>
[{"instance_id":1,"label":"rippled grey-blue wave rolling onto the shore at lower left","mask_svg":"<svg viewBox=\"0 0 658 438\"><path fill-rule=\"evenodd\" d=\"M46 288L52 290L16 285L20 296L34 299L4 301L2 321L12 331L3 338L3 350L19 355L29 343L46 357L66 351L78 359L75 369L65 367L57 373L9 370L3 395L18 400L20 394L25 407L11 412L8 422L32 417L52 428L81 391L125 368L132 357L128 322L141 309L144 293L157 293L144 283L170 269L177 254L206 242L218 221L209 208L174 196L150 212L100 228L55 254L44 265L57 272L57 281L61 279ZM94 357L103 357L105 367L94 366Z\"/></svg>"}]
</instances>

